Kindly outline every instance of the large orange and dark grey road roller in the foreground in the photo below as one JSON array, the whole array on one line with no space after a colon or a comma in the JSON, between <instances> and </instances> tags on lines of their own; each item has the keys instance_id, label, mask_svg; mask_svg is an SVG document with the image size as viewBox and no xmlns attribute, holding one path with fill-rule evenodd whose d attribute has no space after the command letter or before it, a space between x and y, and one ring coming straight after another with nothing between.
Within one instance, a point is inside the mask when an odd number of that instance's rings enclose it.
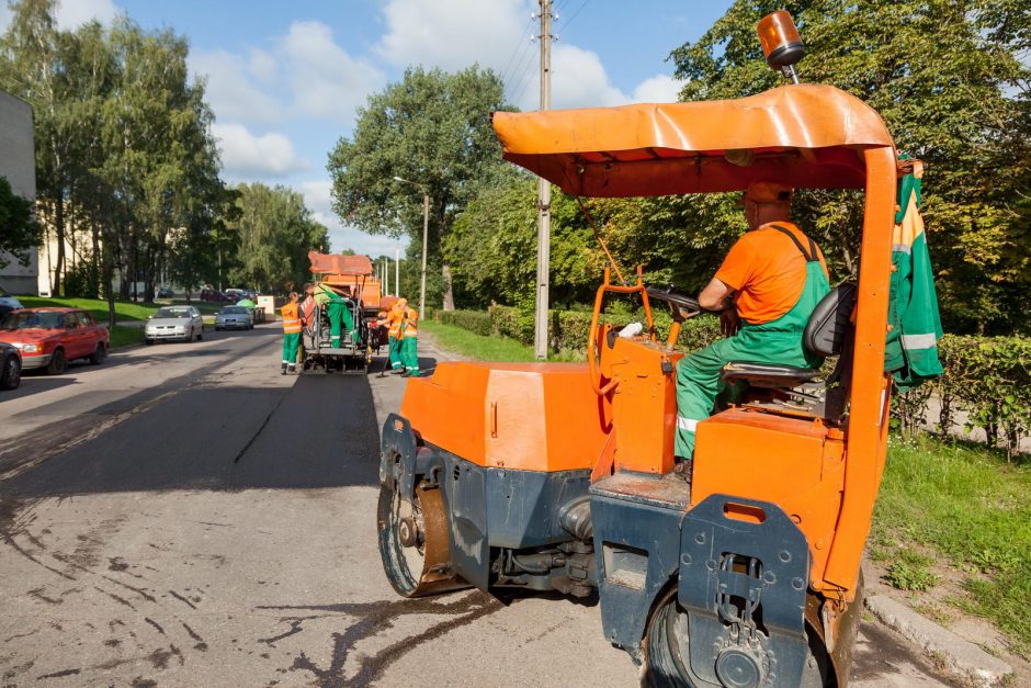
<instances>
[{"instance_id":1,"label":"large orange and dark grey road roller in the foreground","mask_svg":"<svg viewBox=\"0 0 1031 688\"><path fill-rule=\"evenodd\" d=\"M722 193L761 180L862 190L857 279L805 328L824 372L728 364L724 380L746 392L700 421L693 460L677 461L683 354L673 345L700 308L613 263L585 362L442 362L408 382L383 427L377 518L399 595L597 597L607 639L653 686L847 685L886 454L885 332L907 161L869 105L797 82L801 42L786 13L759 32L792 82L727 101L497 112L492 124L507 160L574 196ZM600 317L613 298L633 300L642 327ZM658 308L673 316L668 331Z\"/></svg>"}]
</instances>

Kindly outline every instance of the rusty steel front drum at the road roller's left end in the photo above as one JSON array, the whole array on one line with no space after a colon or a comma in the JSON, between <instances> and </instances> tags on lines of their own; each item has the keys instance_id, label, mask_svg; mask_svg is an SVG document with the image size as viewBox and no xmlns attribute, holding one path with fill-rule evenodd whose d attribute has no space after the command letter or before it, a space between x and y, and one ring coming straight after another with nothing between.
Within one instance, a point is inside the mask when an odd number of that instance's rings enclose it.
<instances>
[{"instance_id":1,"label":"rusty steel front drum at the road roller's left end","mask_svg":"<svg viewBox=\"0 0 1031 688\"><path fill-rule=\"evenodd\" d=\"M451 573L451 537L440 489L416 486L415 499L383 485L377 510L379 556L387 579L404 597L467 587Z\"/></svg>"}]
</instances>

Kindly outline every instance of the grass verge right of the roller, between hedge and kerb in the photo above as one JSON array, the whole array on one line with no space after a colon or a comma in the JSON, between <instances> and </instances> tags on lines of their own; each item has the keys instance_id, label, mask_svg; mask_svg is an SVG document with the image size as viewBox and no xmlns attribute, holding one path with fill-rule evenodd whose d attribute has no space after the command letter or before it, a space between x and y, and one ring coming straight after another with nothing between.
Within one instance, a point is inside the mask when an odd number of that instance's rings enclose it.
<instances>
[{"instance_id":1,"label":"grass verge right of the roller, between hedge and kerb","mask_svg":"<svg viewBox=\"0 0 1031 688\"><path fill-rule=\"evenodd\" d=\"M937 580L937 554L962 576L965 595L949 600L990 619L1031 652L1031 462L932 437L893 438L877 497L871 550L891 561L888 583L922 590Z\"/></svg>"}]
</instances>

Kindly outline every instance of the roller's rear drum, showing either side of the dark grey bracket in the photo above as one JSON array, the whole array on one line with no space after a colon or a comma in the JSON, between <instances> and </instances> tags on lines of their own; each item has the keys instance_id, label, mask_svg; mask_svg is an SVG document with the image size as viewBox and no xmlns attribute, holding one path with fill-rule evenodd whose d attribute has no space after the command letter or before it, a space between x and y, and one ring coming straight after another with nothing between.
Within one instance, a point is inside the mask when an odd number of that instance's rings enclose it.
<instances>
[{"instance_id":1,"label":"roller's rear drum, showing either side of the dark grey bracket","mask_svg":"<svg viewBox=\"0 0 1031 688\"><path fill-rule=\"evenodd\" d=\"M801 688L834 685L834 672L826 648L808 627L806 635L809 643ZM677 601L677 586L662 596L652 612L643 650L647 672L644 686L678 688L692 685L683 663L683 657L689 656L687 613Z\"/></svg>"}]
</instances>

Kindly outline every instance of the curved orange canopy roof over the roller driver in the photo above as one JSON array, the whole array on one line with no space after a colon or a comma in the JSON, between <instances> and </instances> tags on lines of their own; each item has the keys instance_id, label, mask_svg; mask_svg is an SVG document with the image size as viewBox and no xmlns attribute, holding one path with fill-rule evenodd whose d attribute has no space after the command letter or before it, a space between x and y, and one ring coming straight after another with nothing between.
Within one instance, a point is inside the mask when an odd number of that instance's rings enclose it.
<instances>
[{"instance_id":1,"label":"curved orange canopy roof over the roller driver","mask_svg":"<svg viewBox=\"0 0 1031 688\"><path fill-rule=\"evenodd\" d=\"M492 122L505 159L585 196L738 191L759 180L862 188L862 150L894 145L872 108L817 84L737 100L497 112Z\"/></svg>"}]
</instances>

